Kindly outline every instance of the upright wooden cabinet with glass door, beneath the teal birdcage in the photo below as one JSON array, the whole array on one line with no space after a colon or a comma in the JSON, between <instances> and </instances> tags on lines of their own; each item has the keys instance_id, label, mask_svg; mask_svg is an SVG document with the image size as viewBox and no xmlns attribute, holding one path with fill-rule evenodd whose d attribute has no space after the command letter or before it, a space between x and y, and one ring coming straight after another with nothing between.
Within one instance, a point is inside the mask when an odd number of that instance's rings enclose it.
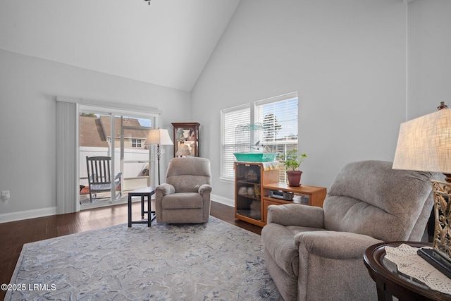
<instances>
[{"instance_id":1,"label":"upright wooden cabinet with glass door, beneath the teal birdcage","mask_svg":"<svg viewBox=\"0 0 451 301\"><path fill-rule=\"evenodd\" d=\"M264 226L263 185L278 181L278 169L264 170L261 162L235 162L235 218Z\"/></svg>"}]
</instances>

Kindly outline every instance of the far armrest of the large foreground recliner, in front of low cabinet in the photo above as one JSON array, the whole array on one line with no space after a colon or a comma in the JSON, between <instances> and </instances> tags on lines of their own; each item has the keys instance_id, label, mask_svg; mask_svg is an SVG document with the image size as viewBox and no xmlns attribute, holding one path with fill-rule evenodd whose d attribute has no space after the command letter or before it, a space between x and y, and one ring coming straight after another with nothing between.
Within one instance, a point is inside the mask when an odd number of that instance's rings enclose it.
<instances>
[{"instance_id":1,"label":"far armrest of the large foreground recliner, in front of low cabinet","mask_svg":"<svg viewBox=\"0 0 451 301\"><path fill-rule=\"evenodd\" d=\"M266 223L324 228L324 211L321 207L302 204L269 205Z\"/></svg>"}]
</instances>

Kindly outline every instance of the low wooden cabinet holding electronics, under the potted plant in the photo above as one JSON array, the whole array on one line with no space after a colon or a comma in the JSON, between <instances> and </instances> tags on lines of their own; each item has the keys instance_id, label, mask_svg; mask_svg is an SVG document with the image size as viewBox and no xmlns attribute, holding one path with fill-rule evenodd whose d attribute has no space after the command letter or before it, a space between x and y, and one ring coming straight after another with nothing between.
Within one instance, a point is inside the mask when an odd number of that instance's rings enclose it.
<instances>
[{"instance_id":1,"label":"low wooden cabinet holding electronics, under the potted plant","mask_svg":"<svg viewBox=\"0 0 451 301\"><path fill-rule=\"evenodd\" d=\"M269 190L293 192L294 197L291 201L269 197ZM301 185L298 187L288 186L285 183L268 183L263 185L263 219L262 223L266 225L269 205L280 204L305 204L310 206L323 207L324 199L327 195L326 188Z\"/></svg>"}]
</instances>

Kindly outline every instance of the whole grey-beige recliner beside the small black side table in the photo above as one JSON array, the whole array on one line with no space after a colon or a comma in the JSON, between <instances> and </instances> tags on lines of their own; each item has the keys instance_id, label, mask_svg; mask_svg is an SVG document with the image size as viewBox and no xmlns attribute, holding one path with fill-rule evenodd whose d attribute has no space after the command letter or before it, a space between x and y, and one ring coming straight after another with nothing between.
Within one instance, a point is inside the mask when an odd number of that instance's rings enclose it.
<instances>
[{"instance_id":1,"label":"whole grey-beige recliner beside the small black side table","mask_svg":"<svg viewBox=\"0 0 451 301\"><path fill-rule=\"evenodd\" d=\"M159 223L206 223L210 216L211 170L204 158L173 158L166 183L155 189Z\"/></svg>"}]
</instances>

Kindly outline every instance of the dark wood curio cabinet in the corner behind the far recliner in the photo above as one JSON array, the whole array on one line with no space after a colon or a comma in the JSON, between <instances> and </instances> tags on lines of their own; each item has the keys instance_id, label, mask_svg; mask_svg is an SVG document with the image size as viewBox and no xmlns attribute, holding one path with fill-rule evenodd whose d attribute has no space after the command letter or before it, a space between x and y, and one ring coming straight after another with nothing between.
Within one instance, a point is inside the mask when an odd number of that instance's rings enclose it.
<instances>
[{"instance_id":1,"label":"dark wood curio cabinet in the corner behind the far recliner","mask_svg":"<svg viewBox=\"0 0 451 301\"><path fill-rule=\"evenodd\" d=\"M200 123L172 123L174 156L199 156Z\"/></svg>"}]
</instances>

